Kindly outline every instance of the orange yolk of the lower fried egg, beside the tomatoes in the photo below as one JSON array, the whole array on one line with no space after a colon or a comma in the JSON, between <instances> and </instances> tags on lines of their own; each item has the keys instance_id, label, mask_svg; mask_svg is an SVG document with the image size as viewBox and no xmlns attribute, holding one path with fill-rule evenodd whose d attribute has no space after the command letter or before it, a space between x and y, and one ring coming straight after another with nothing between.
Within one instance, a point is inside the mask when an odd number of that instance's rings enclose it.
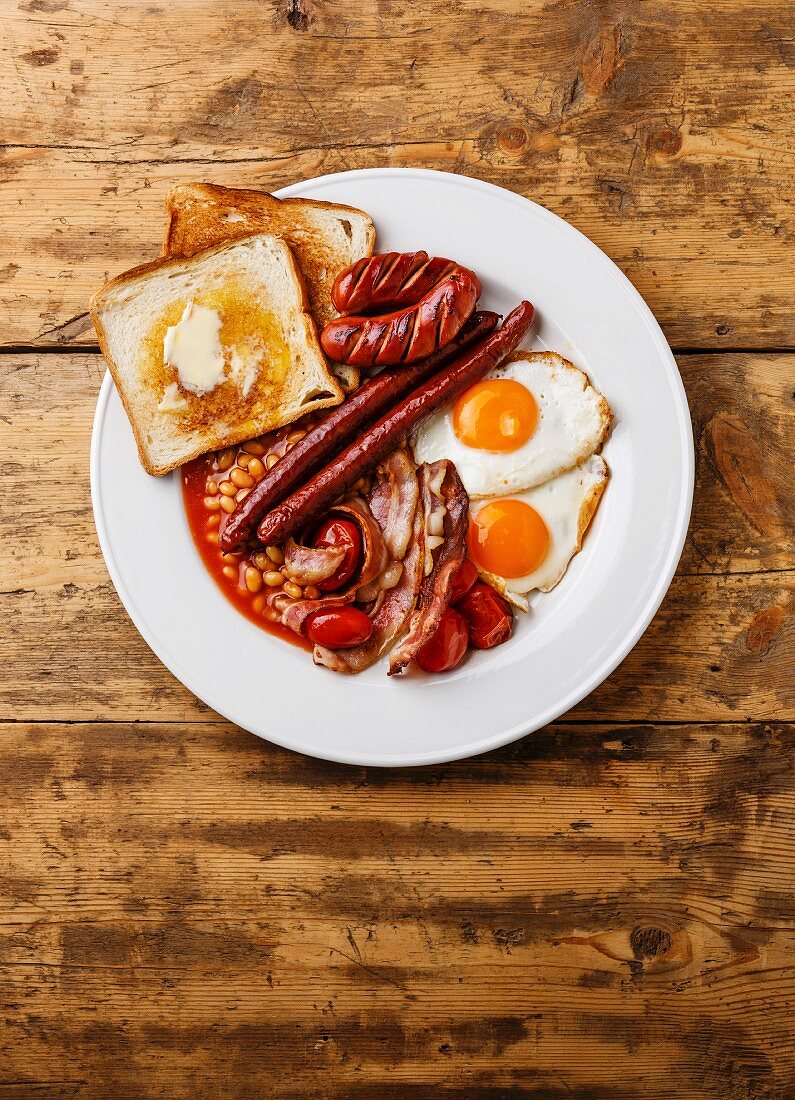
<instances>
[{"instance_id":1,"label":"orange yolk of the lower fried egg, beside the tomatoes","mask_svg":"<svg viewBox=\"0 0 795 1100\"><path fill-rule=\"evenodd\" d=\"M470 519L470 557L498 576L527 576L539 568L550 547L546 524L523 501L492 501Z\"/></svg>"}]
</instances>

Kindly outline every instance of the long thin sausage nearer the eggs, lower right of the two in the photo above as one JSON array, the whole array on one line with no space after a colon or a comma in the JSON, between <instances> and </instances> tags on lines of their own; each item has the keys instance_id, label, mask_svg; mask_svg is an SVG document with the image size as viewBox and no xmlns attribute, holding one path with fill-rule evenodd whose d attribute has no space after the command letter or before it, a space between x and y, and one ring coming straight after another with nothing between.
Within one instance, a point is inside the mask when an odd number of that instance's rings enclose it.
<instances>
[{"instance_id":1,"label":"long thin sausage nearer the eggs, lower right of the two","mask_svg":"<svg viewBox=\"0 0 795 1100\"><path fill-rule=\"evenodd\" d=\"M428 378L358 436L323 470L265 516L257 529L263 542L283 542L327 512L363 473L404 443L418 425L455 400L459 394L501 363L526 336L533 314L531 304L522 301L506 317L497 332Z\"/></svg>"}]
</instances>

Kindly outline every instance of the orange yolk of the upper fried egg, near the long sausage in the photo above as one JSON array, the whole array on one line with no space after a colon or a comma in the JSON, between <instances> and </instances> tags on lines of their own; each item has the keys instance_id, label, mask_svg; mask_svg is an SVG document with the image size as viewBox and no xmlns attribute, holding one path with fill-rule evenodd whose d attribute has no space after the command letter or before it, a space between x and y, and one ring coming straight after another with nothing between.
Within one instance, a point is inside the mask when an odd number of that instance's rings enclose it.
<instances>
[{"instance_id":1,"label":"orange yolk of the upper fried egg, near the long sausage","mask_svg":"<svg viewBox=\"0 0 795 1100\"><path fill-rule=\"evenodd\" d=\"M538 419L535 398L512 378L484 378L453 406L453 431L481 451L516 451L535 431Z\"/></svg>"}]
</instances>

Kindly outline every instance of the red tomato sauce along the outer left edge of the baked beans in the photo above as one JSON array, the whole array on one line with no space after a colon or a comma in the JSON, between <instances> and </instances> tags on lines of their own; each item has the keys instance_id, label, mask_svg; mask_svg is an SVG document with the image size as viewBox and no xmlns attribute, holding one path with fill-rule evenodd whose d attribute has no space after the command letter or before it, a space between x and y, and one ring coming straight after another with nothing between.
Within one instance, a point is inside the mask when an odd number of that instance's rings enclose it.
<instances>
[{"instance_id":1,"label":"red tomato sauce along the outer left edge of the baked beans","mask_svg":"<svg viewBox=\"0 0 795 1100\"><path fill-rule=\"evenodd\" d=\"M232 453L234 453L234 462L230 463ZM235 448L233 452L230 450L219 452L219 454L202 455L183 466L180 481L188 527L205 568L241 615L245 615L261 630L275 635L291 646L311 650L312 646L306 638L301 638L294 630L283 626L280 622L274 622L266 617L265 597L275 590L263 584L257 592L251 592L246 585L246 570L257 570L254 556L258 552L262 553L264 548L257 547L251 551L246 549L234 554L224 554L218 546L218 531L223 522L224 512L220 507L223 494L219 492L217 486L222 482L228 482L233 470L242 469L238 465L241 459L245 463L249 458L250 455L242 448ZM223 461L225 469L220 464L220 460ZM213 487L214 493L210 492ZM208 506L208 502L216 503ZM278 564L274 563L272 569L277 571ZM257 572L262 576L263 570L257 570ZM250 575L253 576L253 574ZM256 581L256 579L254 580Z\"/></svg>"}]
</instances>

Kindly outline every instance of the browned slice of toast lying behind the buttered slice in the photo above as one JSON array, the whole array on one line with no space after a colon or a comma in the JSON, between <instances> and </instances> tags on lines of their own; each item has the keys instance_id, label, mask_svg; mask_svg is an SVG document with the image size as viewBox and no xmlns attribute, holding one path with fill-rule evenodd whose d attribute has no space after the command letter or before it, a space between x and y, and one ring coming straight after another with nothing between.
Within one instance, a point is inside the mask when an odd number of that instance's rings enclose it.
<instances>
[{"instance_id":1,"label":"browned slice of toast lying behind the buttered slice","mask_svg":"<svg viewBox=\"0 0 795 1100\"><path fill-rule=\"evenodd\" d=\"M314 199L277 199L267 191L176 184L166 196L166 256L189 256L249 233L283 238L296 254L319 328L338 316L331 301L335 276L372 255L375 245L373 221L363 210ZM346 391L358 385L356 367L330 366Z\"/></svg>"}]
</instances>

